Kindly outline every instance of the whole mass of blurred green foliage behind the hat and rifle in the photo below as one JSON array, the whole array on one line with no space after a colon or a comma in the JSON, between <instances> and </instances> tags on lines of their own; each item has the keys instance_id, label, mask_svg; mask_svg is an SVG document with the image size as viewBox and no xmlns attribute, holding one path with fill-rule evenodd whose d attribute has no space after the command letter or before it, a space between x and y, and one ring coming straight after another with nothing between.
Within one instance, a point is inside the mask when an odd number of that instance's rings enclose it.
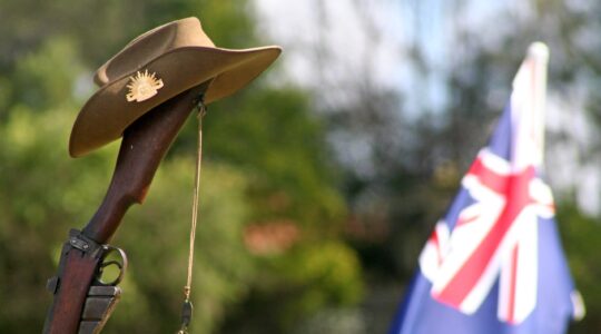
<instances>
[{"instance_id":1,"label":"whole mass of blurred green foliage behind the hat and rifle","mask_svg":"<svg viewBox=\"0 0 601 334\"><path fill-rule=\"evenodd\" d=\"M109 184L118 143L80 159L67 155L72 120L91 94L93 68L146 29L188 16L199 16L219 46L256 46L245 3L0 2L1 18L6 12L21 16L0 20L0 30L16 32L0 37L0 299L11 304L0 313L1 333L40 331L51 302L43 287L56 273L61 243L69 228L91 217ZM211 105L206 118L193 333L227 331L227 324L249 314L272 318L268 312L245 308L257 292L277 297L283 312L275 331L361 296L356 255L339 242L346 208L322 121L309 116L306 92L266 84L258 80ZM112 240L126 249L130 268L107 333L178 328L194 121L181 135L146 203L129 210ZM276 257L252 255L244 244L245 226L277 219L298 226L303 238ZM294 293L278 296L286 288Z\"/></svg>"}]
</instances>

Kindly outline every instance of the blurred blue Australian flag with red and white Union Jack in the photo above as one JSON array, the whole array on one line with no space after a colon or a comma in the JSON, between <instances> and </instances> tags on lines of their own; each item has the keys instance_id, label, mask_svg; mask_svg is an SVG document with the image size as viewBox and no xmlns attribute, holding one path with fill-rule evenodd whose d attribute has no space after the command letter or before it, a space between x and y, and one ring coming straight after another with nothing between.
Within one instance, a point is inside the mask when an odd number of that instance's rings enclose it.
<instances>
[{"instance_id":1,"label":"blurred blue Australian flag with red and white Union Jack","mask_svg":"<svg viewBox=\"0 0 601 334\"><path fill-rule=\"evenodd\" d=\"M583 315L541 177L546 59L532 45L489 145L420 255L391 334L561 334Z\"/></svg>"}]
</instances>

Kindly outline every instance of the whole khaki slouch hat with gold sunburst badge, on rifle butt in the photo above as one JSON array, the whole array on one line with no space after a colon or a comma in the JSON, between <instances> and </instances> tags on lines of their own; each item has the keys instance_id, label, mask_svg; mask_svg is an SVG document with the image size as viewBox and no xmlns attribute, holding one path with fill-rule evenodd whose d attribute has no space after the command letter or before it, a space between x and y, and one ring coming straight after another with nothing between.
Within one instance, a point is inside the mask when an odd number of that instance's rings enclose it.
<instances>
[{"instance_id":1,"label":"whole khaki slouch hat with gold sunburst badge, on rifle butt","mask_svg":"<svg viewBox=\"0 0 601 334\"><path fill-rule=\"evenodd\" d=\"M69 154L79 157L118 139L140 116L205 81L211 80L205 104L227 97L263 72L280 51L275 46L217 48L197 18L155 28L96 71L100 88L73 124Z\"/></svg>"}]
</instances>

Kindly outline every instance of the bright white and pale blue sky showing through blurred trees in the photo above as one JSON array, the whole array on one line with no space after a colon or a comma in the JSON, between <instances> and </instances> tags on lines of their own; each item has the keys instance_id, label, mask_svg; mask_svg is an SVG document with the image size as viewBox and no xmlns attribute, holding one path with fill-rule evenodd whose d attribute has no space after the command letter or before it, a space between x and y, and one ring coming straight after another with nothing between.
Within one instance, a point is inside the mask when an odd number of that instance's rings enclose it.
<instances>
[{"instance_id":1,"label":"bright white and pale blue sky showing through blurred trees","mask_svg":"<svg viewBox=\"0 0 601 334\"><path fill-rule=\"evenodd\" d=\"M259 30L284 48L280 61L287 80L307 88L328 89L344 88L345 82L362 76L382 88L418 92L405 95L404 110L444 109L449 66L453 57L462 57L461 45L455 41L457 29L481 29L486 40L495 43L504 33L504 24L489 22L499 11L509 10L518 17L530 12L525 2L519 0L471 0L461 12L454 13L449 3L441 0L254 0L262 18ZM372 30L380 33L374 35ZM415 43L423 47L426 62L433 69L425 76L410 61L408 50ZM551 61L552 58L553 50ZM599 214L601 174L598 166L601 161L582 161L593 136L584 117L583 88L555 91L552 82L549 87L548 131L569 136L570 140L548 144L548 178L560 193L575 189L580 206L590 214ZM502 90L509 91L509 87ZM331 96L328 102L344 104L345 99L345 96Z\"/></svg>"}]
</instances>

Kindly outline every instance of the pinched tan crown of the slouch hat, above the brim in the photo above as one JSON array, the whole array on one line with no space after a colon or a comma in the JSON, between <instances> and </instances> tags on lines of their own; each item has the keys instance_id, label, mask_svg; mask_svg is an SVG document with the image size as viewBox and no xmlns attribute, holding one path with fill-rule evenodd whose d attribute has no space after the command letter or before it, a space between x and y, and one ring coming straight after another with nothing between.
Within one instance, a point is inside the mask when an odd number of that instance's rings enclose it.
<instances>
[{"instance_id":1,"label":"pinched tan crown of the slouch hat, above the brim","mask_svg":"<svg viewBox=\"0 0 601 334\"><path fill-rule=\"evenodd\" d=\"M214 48L215 43L203 31L197 18L169 22L130 41L96 71L93 80L99 86L104 86L142 69L145 65L169 50L183 47Z\"/></svg>"}]
</instances>

